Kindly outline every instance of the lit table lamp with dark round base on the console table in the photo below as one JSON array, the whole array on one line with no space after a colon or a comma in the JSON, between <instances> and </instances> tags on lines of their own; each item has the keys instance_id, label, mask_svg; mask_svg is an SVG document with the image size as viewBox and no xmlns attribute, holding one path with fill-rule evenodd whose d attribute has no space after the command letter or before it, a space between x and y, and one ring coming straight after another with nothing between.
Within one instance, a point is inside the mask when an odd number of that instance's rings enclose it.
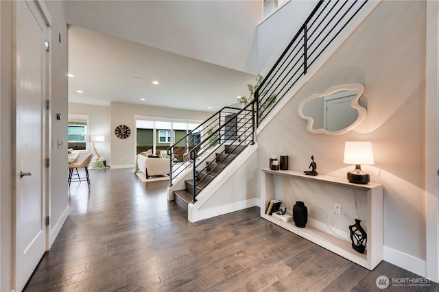
<instances>
[{"instance_id":1,"label":"lit table lamp with dark round base on the console table","mask_svg":"<svg viewBox=\"0 0 439 292\"><path fill-rule=\"evenodd\" d=\"M353 184L368 184L370 175L361 171L361 165L374 165L372 142L347 141L344 145L343 163L355 165L354 171L348 172L348 181Z\"/></svg>"}]
</instances>

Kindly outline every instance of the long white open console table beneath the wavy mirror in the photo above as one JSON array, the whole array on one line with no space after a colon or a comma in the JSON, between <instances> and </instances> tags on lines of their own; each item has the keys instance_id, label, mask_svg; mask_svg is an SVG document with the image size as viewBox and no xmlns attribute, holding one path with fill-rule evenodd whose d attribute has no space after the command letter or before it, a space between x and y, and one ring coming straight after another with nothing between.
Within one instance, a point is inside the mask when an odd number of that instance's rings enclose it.
<instances>
[{"instance_id":1,"label":"long white open console table beneath the wavy mirror","mask_svg":"<svg viewBox=\"0 0 439 292\"><path fill-rule=\"evenodd\" d=\"M367 195L367 234L368 241L366 243L366 252L360 254L353 250L350 242L344 241L322 232L315 228L306 226L298 228L293 221L283 222L270 215L265 215L265 206L270 199L275 199L274 177L275 175L284 175L291 179L309 180L311 182L320 182L332 184L344 188L354 188L360 191L366 191ZM369 184L351 184L346 178L335 178L327 175L305 175L300 171L272 171L270 169L262 169L261 171L261 217L268 221L302 236L304 239L312 241L321 247L334 252L353 263L357 263L366 269L374 269L381 260L383 260L383 186L370 182ZM354 222L353 222L354 223Z\"/></svg>"}]
</instances>

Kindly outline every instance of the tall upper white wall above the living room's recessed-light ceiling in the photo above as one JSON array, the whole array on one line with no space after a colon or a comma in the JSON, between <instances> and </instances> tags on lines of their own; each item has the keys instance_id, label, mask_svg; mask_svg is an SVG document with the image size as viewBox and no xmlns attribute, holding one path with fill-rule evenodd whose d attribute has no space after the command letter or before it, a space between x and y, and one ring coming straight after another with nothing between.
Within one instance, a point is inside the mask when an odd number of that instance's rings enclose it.
<instances>
[{"instance_id":1,"label":"tall upper white wall above the living room's recessed-light ceiling","mask_svg":"<svg viewBox=\"0 0 439 292\"><path fill-rule=\"evenodd\" d=\"M261 3L248 0L68 3L72 25L252 74L260 19Z\"/></svg>"}]
</instances>

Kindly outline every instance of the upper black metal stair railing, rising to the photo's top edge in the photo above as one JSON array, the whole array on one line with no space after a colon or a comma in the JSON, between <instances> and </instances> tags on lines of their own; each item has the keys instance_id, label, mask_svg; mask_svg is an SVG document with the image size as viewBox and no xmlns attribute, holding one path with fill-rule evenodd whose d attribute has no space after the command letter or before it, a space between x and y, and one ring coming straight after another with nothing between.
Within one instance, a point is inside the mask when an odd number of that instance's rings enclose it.
<instances>
[{"instance_id":1,"label":"upper black metal stair railing, rising to the photo's top edge","mask_svg":"<svg viewBox=\"0 0 439 292\"><path fill-rule=\"evenodd\" d=\"M305 75L368 0L320 0L254 93L256 127ZM276 97L273 101L272 97Z\"/></svg>"}]
</instances>

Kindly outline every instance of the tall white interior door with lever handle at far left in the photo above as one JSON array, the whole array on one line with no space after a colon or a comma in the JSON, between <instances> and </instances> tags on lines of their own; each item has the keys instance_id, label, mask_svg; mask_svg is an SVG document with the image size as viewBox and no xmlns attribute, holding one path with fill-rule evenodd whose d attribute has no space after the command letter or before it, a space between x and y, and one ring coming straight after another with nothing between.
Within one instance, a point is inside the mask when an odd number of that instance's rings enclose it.
<instances>
[{"instance_id":1,"label":"tall white interior door with lever handle at far left","mask_svg":"<svg viewBox=\"0 0 439 292\"><path fill-rule=\"evenodd\" d=\"M46 250L45 99L47 25L34 1L16 5L15 291ZM21 175L21 172L23 173Z\"/></svg>"}]
</instances>

